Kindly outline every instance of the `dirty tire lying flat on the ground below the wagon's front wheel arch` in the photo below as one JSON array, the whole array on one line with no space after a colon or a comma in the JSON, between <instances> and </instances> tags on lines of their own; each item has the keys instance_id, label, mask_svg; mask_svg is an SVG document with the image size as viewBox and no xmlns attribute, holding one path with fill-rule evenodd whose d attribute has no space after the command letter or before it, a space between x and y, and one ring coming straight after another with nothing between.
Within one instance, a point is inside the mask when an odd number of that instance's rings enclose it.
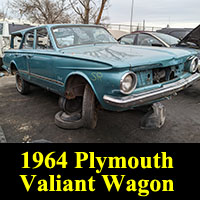
<instances>
[{"instance_id":1,"label":"dirty tire lying flat on the ground below the wagon's front wheel arch","mask_svg":"<svg viewBox=\"0 0 200 200\"><path fill-rule=\"evenodd\" d=\"M63 115L65 115L65 112L60 111L55 115L55 124L63 129L79 129L83 127L83 119L80 118L78 120L69 120L69 119L64 119ZM72 117L73 119L73 117Z\"/></svg>"}]
</instances>

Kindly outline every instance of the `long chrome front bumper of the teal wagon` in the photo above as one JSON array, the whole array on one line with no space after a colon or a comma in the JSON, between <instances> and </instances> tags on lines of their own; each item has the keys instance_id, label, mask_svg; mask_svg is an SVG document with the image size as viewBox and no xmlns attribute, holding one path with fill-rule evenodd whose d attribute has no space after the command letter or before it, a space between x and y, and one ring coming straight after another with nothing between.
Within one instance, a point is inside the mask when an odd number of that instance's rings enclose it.
<instances>
[{"instance_id":1,"label":"long chrome front bumper of the teal wagon","mask_svg":"<svg viewBox=\"0 0 200 200\"><path fill-rule=\"evenodd\" d=\"M103 99L106 103L121 108L141 106L159 99L167 98L183 90L184 88L189 87L199 79L200 79L200 73L195 73L189 76L188 78L183 78L174 83L163 85L161 88L158 89L153 89L150 91L133 94L125 97L104 95Z\"/></svg>"}]
</instances>

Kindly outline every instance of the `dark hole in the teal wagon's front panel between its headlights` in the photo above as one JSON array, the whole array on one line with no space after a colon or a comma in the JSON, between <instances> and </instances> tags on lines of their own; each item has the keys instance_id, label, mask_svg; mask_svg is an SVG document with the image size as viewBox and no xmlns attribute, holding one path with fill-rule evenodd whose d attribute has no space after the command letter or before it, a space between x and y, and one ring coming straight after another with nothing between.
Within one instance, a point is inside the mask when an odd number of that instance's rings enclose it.
<instances>
[{"instance_id":1,"label":"dark hole in the teal wagon's front panel between its headlights","mask_svg":"<svg viewBox=\"0 0 200 200\"><path fill-rule=\"evenodd\" d=\"M177 68L176 68L177 69ZM165 81L173 80L177 78L175 69L164 68L164 69L153 69L153 83L163 83Z\"/></svg>"}]
</instances>

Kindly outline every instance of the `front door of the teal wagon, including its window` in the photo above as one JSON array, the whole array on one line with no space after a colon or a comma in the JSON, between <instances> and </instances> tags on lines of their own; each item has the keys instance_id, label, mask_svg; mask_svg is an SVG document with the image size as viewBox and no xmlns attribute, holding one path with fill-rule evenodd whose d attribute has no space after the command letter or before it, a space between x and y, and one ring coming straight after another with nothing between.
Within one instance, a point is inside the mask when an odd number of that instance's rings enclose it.
<instances>
[{"instance_id":1,"label":"front door of the teal wagon, including its window","mask_svg":"<svg viewBox=\"0 0 200 200\"><path fill-rule=\"evenodd\" d=\"M52 53L54 49L46 28L36 29L34 55L29 57L32 82L53 90L55 88L55 69Z\"/></svg>"}]
</instances>

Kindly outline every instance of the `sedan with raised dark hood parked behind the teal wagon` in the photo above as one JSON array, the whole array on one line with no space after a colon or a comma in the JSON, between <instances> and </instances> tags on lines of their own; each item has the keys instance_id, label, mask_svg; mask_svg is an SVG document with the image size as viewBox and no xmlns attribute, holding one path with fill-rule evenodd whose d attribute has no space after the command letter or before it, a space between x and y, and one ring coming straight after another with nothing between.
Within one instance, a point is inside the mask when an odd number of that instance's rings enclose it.
<instances>
[{"instance_id":1,"label":"sedan with raised dark hood parked behind the teal wagon","mask_svg":"<svg viewBox=\"0 0 200 200\"><path fill-rule=\"evenodd\" d=\"M122 36L118 41L120 44L128 45L194 49L200 58L200 26L193 29L182 40L164 33L138 31Z\"/></svg>"}]
</instances>

